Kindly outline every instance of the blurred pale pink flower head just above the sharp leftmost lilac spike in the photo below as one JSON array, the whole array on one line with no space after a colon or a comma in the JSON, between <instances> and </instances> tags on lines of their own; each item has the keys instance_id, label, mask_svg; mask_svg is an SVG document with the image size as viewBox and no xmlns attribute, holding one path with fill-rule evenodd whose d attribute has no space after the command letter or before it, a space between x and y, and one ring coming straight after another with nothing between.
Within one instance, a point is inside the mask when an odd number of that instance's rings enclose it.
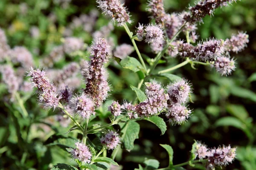
<instances>
[{"instance_id":1,"label":"blurred pale pink flower head just above the sharp leftmost lilac spike","mask_svg":"<svg viewBox=\"0 0 256 170\"><path fill-rule=\"evenodd\" d=\"M33 65L32 54L25 47L15 47L10 51L10 57L13 63L20 63L23 68L29 68Z\"/></svg>"}]
</instances>

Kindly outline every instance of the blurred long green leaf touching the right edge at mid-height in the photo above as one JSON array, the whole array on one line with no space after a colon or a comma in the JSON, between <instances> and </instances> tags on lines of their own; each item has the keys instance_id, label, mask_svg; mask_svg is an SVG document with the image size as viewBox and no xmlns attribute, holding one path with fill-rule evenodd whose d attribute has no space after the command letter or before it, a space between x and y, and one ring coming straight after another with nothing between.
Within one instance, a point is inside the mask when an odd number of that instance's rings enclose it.
<instances>
[{"instance_id":1,"label":"blurred long green leaf touching the right edge at mid-height","mask_svg":"<svg viewBox=\"0 0 256 170\"><path fill-rule=\"evenodd\" d=\"M256 102L256 94L246 88L232 87L230 88L230 93L234 96L250 99L253 102Z\"/></svg>"}]
</instances>

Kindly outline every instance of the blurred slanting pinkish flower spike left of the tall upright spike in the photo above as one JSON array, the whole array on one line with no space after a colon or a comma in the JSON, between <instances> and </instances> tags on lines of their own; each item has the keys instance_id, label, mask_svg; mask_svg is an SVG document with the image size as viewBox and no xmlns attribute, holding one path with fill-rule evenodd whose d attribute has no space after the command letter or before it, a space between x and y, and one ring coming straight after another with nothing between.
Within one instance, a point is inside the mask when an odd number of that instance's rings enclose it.
<instances>
[{"instance_id":1,"label":"blurred slanting pinkish flower spike left of the tall upright spike","mask_svg":"<svg viewBox=\"0 0 256 170\"><path fill-rule=\"evenodd\" d=\"M58 74L53 79L56 85L61 85L66 79L75 76L79 72L79 64L71 62L65 66L62 70L58 71Z\"/></svg>"}]
</instances>

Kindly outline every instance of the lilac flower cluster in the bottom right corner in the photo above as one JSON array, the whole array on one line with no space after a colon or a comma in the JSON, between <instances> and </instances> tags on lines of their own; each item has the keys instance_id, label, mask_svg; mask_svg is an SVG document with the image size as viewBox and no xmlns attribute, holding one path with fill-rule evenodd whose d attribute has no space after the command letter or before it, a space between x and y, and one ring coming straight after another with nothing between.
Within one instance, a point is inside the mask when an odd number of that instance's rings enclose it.
<instances>
[{"instance_id":1,"label":"lilac flower cluster in the bottom right corner","mask_svg":"<svg viewBox=\"0 0 256 170\"><path fill-rule=\"evenodd\" d=\"M226 166L236 157L236 148L222 146L218 148L207 148L205 144L196 142L194 154L199 159L208 159L207 168L213 170L215 166Z\"/></svg>"}]
</instances>

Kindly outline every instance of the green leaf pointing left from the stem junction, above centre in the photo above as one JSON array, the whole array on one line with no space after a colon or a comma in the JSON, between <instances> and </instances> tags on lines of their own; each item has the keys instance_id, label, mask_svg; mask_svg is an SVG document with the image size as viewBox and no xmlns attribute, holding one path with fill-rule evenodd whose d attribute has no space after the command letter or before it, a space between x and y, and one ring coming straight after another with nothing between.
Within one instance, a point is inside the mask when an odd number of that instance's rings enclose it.
<instances>
[{"instance_id":1,"label":"green leaf pointing left from the stem junction, above centre","mask_svg":"<svg viewBox=\"0 0 256 170\"><path fill-rule=\"evenodd\" d=\"M133 72L137 72L137 71L140 71L140 70L145 72L143 66L134 57L129 57L128 56L127 58L122 59L120 64L122 65L123 68L130 69Z\"/></svg>"}]
</instances>

